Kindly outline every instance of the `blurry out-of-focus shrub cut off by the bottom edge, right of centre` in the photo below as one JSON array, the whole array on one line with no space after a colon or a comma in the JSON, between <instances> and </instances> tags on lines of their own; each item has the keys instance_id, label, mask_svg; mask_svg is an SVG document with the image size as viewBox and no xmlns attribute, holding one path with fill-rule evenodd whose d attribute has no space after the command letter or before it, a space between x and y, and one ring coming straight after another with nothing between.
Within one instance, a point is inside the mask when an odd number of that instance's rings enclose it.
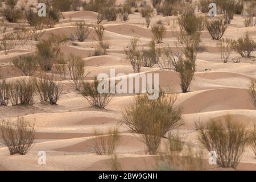
<instances>
[{"instance_id":1,"label":"blurry out-of-focus shrub cut off by the bottom edge, right of centre","mask_svg":"<svg viewBox=\"0 0 256 182\"><path fill-rule=\"evenodd\" d=\"M168 147L168 146L167 146ZM185 144L183 150L167 150L156 156L158 171L201 171L205 170L203 151L193 148L192 144Z\"/></svg>"}]
</instances>

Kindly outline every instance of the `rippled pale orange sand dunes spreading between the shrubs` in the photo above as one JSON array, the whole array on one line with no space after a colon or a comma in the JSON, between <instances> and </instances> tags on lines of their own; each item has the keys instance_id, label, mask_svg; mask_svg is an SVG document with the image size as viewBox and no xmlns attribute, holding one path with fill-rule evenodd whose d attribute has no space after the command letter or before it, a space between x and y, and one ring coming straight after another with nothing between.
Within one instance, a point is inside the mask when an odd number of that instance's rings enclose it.
<instances>
[{"instance_id":1,"label":"rippled pale orange sand dunes spreading between the shrubs","mask_svg":"<svg viewBox=\"0 0 256 182\"><path fill-rule=\"evenodd\" d=\"M36 1L31 1L36 3ZM121 1L118 1L121 2ZM50 34L69 34L72 23L84 19L86 23L96 23L97 13L90 11L65 12L65 19L61 19L55 28L46 30L42 39ZM151 24L161 20L167 27L166 37L159 47L175 48L176 38L172 26L177 16L163 17L155 15ZM16 23L6 23L8 27L17 27ZM133 36L139 36L139 46L145 47L151 40L151 30L146 28L144 18L140 13L129 16L128 22L106 22L105 40L109 42L108 55L90 56L96 46L95 32L91 32L85 42L76 42L73 46L68 43L61 46L65 54L73 53L81 56L85 61L86 80L92 80L99 73L108 73L115 68L115 74L134 74L129 61L123 51L129 46ZM243 18L235 15L228 26L224 38L237 39L249 32L256 40L256 27L245 28ZM17 48L5 55L0 51L0 66L5 71L5 78L13 80L22 77L14 68L11 60L20 55L35 52L35 41L27 43L26 48ZM159 82L162 88L171 88L177 94L176 106L181 107L183 125L176 130L186 142L192 142L201 147L197 140L194 122L200 118L207 122L210 118L220 118L233 115L241 122L256 122L256 110L249 100L247 86L251 79L256 79L256 60L241 59L241 63L233 63L232 59L240 57L236 52L230 55L229 63L222 63L216 40L212 40L208 31L202 31L201 44L205 46L203 52L197 54L196 74L192 81L191 92L181 93L180 78L173 71L162 71L158 65L153 68L142 68L142 73L159 73ZM256 56L255 52L253 54ZM138 73L139 74L139 73ZM39 75L37 72L35 75ZM146 155L144 144L139 136L131 133L120 123L123 107L133 103L133 95L115 95L106 109L90 107L84 97L74 92L69 81L61 81L63 94L56 106L40 103L33 106L1 106L0 119L9 119L15 122L17 117L24 117L30 123L35 123L38 135L36 143L26 155L9 154L9 150L0 143L0 170L109 170L109 158L106 155L96 155L92 149L93 129L108 131L118 127L121 139L117 147L118 160L122 169L154 169L154 156ZM163 142L164 143L164 139ZM161 146L163 148L163 146ZM46 165L38 164L38 152L46 151ZM208 152L205 152L205 161L208 162ZM207 166L208 169L220 169L217 166ZM256 170L256 159L253 151L246 148L241 163L237 169Z\"/></svg>"}]
</instances>

